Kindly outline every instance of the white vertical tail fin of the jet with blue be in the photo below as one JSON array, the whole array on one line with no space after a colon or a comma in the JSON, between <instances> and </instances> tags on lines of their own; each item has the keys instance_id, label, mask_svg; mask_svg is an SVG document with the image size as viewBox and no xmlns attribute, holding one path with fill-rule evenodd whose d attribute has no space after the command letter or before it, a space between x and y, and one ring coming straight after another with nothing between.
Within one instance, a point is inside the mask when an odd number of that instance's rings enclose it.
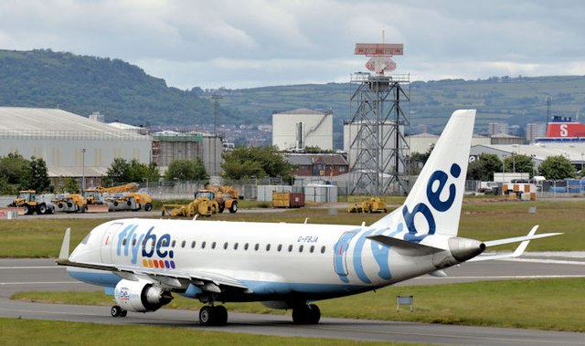
<instances>
[{"instance_id":1,"label":"white vertical tail fin of the jet with blue be","mask_svg":"<svg viewBox=\"0 0 585 346\"><path fill-rule=\"evenodd\" d=\"M455 110L402 206L373 227L403 227L407 241L435 233L457 236L475 110Z\"/></svg>"}]
</instances>

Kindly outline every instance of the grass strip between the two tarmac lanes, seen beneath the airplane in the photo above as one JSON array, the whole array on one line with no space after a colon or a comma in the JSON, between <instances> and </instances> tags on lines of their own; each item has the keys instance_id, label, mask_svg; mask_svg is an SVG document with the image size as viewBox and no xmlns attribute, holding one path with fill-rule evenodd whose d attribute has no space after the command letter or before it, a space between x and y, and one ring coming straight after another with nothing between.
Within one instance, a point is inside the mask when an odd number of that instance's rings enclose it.
<instances>
[{"instance_id":1,"label":"grass strip between the two tarmac lanes, seen beneath the airplane","mask_svg":"<svg viewBox=\"0 0 585 346\"><path fill-rule=\"evenodd\" d=\"M502 280L433 286L389 287L318 302L323 316L429 323L585 331L585 278ZM414 296L414 312L396 311L397 295ZM24 292L13 299L69 304L112 305L98 292ZM176 296L167 307L199 309L197 300ZM228 303L230 311L285 313L260 303ZM287 313L290 314L290 311Z\"/></svg>"}]
</instances>

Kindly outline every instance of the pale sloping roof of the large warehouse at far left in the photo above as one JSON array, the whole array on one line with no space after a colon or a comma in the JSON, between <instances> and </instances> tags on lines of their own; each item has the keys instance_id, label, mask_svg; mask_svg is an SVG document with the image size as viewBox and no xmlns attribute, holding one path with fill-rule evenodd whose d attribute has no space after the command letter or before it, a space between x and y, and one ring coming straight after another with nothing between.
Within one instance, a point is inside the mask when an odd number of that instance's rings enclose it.
<instances>
[{"instance_id":1,"label":"pale sloping roof of the large warehouse at far left","mask_svg":"<svg viewBox=\"0 0 585 346\"><path fill-rule=\"evenodd\" d=\"M133 131L122 131L66 110L0 107L0 135L47 136L51 138L123 137L144 139Z\"/></svg>"}]
</instances>

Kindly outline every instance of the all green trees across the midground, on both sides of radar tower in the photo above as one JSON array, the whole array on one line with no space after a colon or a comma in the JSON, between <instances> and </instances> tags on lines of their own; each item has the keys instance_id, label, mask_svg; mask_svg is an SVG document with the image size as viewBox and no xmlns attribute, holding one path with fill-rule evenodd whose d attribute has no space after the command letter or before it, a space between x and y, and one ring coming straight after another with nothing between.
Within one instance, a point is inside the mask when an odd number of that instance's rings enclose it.
<instances>
[{"instance_id":1,"label":"all green trees across the midground, on both sides of radar tower","mask_svg":"<svg viewBox=\"0 0 585 346\"><path fill-rule=\"evenodd\" d=\"M429 158L432 148L426 153L413 153L410 157L410 173L420 172ZM222 154L221 173L223 178L241 180L249 178L282 177L291 178L296 169L286 160L284 153L275 147L240 146ZM496 154L483 153L469 164L468 180L493 181L496 172L529 173L542 175L547 179L560 180L575 178L577 172L569 159L563 155L549 156L538 168L532 157L524 154L507 156L502 161ZM581 173L582 175L582 173ZM116 158L106 171L101 182L104 186L118 183L151 183L159 181L205 181L209 174L200 158L176 160L169 164L161 175L156 163L140 163L138 160ZM77 193L80 184L73 177L58 177L55 185L48 178L47 163L42 158L25 159L18 152L0 156L0 194L16 194L19 190L36 190L37 193Z\"/></svg>"}]
</instances>

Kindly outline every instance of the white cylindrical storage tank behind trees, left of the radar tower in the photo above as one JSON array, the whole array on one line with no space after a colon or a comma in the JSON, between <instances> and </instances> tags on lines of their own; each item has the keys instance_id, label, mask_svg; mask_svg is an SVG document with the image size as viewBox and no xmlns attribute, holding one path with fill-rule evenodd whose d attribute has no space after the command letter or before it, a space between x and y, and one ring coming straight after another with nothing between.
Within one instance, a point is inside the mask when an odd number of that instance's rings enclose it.
<instances>
[{"instance_id":1,"label":"white cylindrical storage tank behind trees, left of the radar tower","mask_svg":"<svg viewBox=\"0 0 585 346\"><path fill-rule=\"evenodd\" d=\"M279 150L333 150L333 112L289 110L272 114L272 145Z\"/></svg>"}]
</instances>

